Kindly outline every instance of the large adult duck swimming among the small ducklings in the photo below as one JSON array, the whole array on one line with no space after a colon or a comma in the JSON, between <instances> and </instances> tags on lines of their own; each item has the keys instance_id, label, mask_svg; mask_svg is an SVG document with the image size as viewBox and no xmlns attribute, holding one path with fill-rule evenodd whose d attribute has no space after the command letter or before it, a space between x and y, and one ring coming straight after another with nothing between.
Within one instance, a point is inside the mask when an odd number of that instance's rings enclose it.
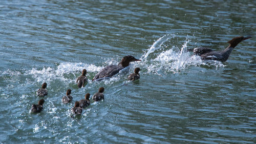
<instances>
[{"instance_id":1,"label":"large adult duck swimming among the small ducklings","mask_svg":"<svg viewBox=\"0 0 256 144\"><path fill-rule=\"evenodd\" d=\"M94 76L93 81L96 79L99 79L99 78L103 78L103 77L110 78L110 77L114 76L120 70L124 69L125 67L128 67L130 62L132 62L132 61L141 61L141 60L136 59L135 57L133 57L131 55L124 56L118 65L110 65L110 66L104 67L99 73L97 73Z\"/></svg>"}]
</instances>

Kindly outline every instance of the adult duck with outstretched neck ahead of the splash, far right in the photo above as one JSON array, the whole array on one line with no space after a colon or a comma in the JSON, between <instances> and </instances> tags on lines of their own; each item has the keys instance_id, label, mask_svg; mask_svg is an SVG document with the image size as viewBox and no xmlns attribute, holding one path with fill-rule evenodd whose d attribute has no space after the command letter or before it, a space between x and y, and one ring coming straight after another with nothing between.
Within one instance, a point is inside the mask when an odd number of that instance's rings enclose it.
<instances>
[{"instance_id":1,"label":"adult duck with outstretched neck ahead of the splash, far right","mask_svg":"<svg viewBox=\"0 0 256 144\"><path fill-rule=\"evenodd\" d=\"M210 59L210 60L218 60L218 61L226 61L231 53L231 51L236 47L240 42L243 40L246 40L248 38L251 38L251 36L243 37L238 36L234 37L233 39L229 40L227 43L230 45L222 51L212 51L209 48L195 48L195 49L189 49L188 51L193 51L195 54L200 55L201 59Z\"/></svg>"}]
</instances>

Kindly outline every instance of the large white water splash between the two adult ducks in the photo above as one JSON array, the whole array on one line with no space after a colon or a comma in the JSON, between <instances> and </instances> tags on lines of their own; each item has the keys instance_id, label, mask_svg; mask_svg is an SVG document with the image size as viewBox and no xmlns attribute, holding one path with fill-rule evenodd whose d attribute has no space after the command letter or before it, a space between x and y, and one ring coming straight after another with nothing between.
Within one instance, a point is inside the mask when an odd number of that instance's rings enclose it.
<instances>
[{"instance_id":1,"label":"large white water splash between the two adult ducks","mask_svg":"<svg viewBox=\"0 0 256 144\"><path fill-rule=\"evenodd\" d=\"M159 49L161 45L166 42L169 38L175 37L175 35L163 36L155 42L150 49L147 50L147 53L144 55L144 58L148 54L154 52L156 49ZM143 66L147 69L147 73L153 73L158 75L166 75L170 72L180 73L182 70L186 70L190 66L214 66L216 69L223 68L224 65L220 61L214 60L201 60L200 56L194 55L187 51L187 45L190 40L187 38L181 48L178 46L167 46L170 47L167 50L162 50L157 54L156 58L147 59L143 62Z\"/></svg>"}]
</instances>

